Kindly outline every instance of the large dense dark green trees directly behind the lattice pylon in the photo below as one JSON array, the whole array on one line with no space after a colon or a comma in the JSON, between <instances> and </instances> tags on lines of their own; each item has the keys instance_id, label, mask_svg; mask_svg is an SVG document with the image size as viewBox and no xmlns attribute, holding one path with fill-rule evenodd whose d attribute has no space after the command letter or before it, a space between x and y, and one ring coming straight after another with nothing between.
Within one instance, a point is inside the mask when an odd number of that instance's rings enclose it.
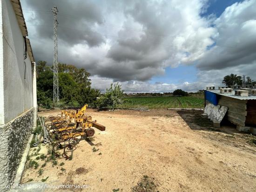
<instances>
[{"instance_id":1,"label":"large dense dark green trees directly behind the lattice pylon","mask_svg":"<svg viewBox=\"0 0 256 192\"><path fill-rule=\"evenodd\" d=\"M69 106L96 106L100 91L91 87L90 73L83 68L59 63L60 101ZM46 61L37 64L37 94L38 105L52 105L53 98L53 66L47 66Z\"/></svg>"}]
</instances>

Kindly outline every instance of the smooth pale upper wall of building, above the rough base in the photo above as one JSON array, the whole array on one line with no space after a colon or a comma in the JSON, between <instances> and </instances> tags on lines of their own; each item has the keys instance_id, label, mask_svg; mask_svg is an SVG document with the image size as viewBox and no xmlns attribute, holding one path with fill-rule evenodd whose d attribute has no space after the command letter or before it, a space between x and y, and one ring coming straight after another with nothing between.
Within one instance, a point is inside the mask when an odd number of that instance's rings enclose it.
<instances>
[{"instance_id":1,"label":"smooth pale upper wall of building, above the rough base","mask_svg":"<svg viewBox=\"0 0 256 192\"><path fill-rule=\"evenodd\" d=\"M10 0L2 1L4 123L33 107L31 61ZM26 79L25 79L26 78Z\"/></svg>"}]
</instances>

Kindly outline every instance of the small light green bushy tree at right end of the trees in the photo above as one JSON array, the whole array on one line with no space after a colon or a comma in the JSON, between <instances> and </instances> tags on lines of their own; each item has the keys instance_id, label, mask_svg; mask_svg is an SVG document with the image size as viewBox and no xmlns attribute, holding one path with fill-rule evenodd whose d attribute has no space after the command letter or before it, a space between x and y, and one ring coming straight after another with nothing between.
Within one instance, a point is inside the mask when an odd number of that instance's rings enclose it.
<instances>
[{"instance_id":1,"label":"small light green bushy tree at right end of the trees","mask_svg":"<svg viewBox=\"0 0 256 192\"><path fill-rule=\"evenodd\" d=\"M107 107L110 109L116 108L119 104L123 103L123 90L121 85L117 82L110 85L110 88L106 89L106 93L99 98L100 108Z\"/></svg>"}]
</instances>

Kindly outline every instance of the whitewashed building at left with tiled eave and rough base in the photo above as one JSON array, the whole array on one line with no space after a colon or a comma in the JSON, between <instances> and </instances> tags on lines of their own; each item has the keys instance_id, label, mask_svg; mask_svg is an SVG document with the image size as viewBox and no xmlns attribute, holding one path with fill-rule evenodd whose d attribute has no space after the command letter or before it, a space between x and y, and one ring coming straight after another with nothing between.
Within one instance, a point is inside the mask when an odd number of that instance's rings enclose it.
<instances>
[{"instance_id":1,"label":"whitewashed building at left with tiled eave and rough base","mask_svg":"<svg viewBox=\"0 0 256 192\"><path fill-rule=\"evenodd\" d=\"M15 178L36 124L35 63L20 0L0 1L0 191Z\"/></svg>"}]
</instances>

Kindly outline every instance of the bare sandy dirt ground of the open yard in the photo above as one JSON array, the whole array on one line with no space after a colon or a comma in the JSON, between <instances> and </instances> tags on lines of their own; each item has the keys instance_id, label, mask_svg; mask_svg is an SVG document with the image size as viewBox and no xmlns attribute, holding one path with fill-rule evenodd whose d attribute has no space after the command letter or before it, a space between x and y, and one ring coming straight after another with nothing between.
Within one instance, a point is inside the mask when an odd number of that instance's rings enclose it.
<instances>
[{"instance_id":1,"label":"bare sandy dirt ground of the open yard","mask_svg":"<svg viewBox=\"0 0 256 192\"><path fill-rule=\"evenodd\" d=\"M88 192L255 192L256 137L230 126L214 129L200 113L89 109L106 131L95 129L92 139L78 144L72 160L48 162L41 175L45 161L39 159L39 168L27 168L22 182L88 185L83 189ZM39 153L47 154L47 147L41 145Z\"/></svg>"}]
</instances>

